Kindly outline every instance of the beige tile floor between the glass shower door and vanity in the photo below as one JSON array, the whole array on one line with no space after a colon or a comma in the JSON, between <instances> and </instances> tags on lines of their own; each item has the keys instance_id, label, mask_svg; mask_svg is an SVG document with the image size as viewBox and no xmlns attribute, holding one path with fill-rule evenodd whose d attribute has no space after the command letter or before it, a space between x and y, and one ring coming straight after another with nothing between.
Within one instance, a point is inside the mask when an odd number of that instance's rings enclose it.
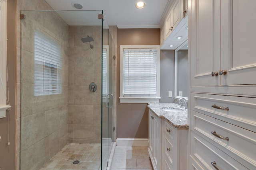
<instances>
[{"instance_id":1,"label":"beige tile floor between the glass shower door and vanity","mask_svg":"<svg viewBox=\"0 0 256 170\"><path fill-rule=\"evenodd\" d=\"M116 146L111 170L152 170L148 147Z\"/></svg>"}]
</instances>

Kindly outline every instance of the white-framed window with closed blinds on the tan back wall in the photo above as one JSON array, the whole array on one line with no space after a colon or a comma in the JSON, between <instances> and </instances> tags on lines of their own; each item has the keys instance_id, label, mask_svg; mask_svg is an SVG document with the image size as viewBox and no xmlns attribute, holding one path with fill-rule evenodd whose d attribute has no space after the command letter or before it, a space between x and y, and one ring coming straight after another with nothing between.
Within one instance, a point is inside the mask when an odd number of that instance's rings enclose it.
<instances>
[{"instance_id":1,"label":"white-framed window with closed blinds on the tan back wall","mask_svg":"<svg viewBox=\"0 0 256 170\"><path fill-rule=\"evenodd\" d=\"M159 102L159 45L120 46L120 102Z\"/></svg>"}]
</instances>

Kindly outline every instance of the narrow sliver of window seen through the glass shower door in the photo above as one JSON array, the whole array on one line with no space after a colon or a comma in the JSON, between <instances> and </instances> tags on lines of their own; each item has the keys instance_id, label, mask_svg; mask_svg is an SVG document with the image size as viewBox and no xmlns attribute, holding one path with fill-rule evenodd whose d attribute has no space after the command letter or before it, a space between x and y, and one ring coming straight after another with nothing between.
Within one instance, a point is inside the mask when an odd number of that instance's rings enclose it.
<instances>
[{"instance_id":1,"label":"narrow sliver of window seen through the glass shower door","mask_svg":"<svg viewBox=\"0 0 256 170\"><path fill-rule=\"evenodd\" d=\"M108 94L108 45L103 45L102 49L102 97Z\"/></svg>"}]
</instances>

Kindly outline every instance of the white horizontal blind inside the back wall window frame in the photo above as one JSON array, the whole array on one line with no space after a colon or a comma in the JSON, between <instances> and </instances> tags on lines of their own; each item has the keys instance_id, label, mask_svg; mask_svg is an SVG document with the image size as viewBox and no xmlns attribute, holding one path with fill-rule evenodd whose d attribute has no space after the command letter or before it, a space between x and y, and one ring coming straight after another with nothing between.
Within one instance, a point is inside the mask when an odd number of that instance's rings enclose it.
<instances>
[{"instance_id":1,"label":"white horizontal blind inside the back wall window frame","mask_svg":"<svg viewBox=\"0 0 256 170\"><path fill-rule=\"evenodd\" d=\"M157 96L157 49L123 49L123 97Z\"/></svg>"}]
</instances>

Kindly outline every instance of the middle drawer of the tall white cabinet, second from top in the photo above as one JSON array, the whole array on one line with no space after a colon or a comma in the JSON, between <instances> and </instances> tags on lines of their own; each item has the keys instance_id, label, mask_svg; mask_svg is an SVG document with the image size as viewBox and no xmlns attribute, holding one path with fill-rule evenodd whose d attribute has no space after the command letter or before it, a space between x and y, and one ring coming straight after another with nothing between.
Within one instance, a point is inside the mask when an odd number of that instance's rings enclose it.
<instances>
[{"instance_id":1,"label":"middle drawer of the tall white cabinet, second from top","mask_svg":"<svg viewBox=\"0 0 256 170\"><path fill-rule=\"evenodd\" d=\"M192 131L248 168L256 169L256 133L196 111L191 113Z\"/></svg>"}]
</instances>

